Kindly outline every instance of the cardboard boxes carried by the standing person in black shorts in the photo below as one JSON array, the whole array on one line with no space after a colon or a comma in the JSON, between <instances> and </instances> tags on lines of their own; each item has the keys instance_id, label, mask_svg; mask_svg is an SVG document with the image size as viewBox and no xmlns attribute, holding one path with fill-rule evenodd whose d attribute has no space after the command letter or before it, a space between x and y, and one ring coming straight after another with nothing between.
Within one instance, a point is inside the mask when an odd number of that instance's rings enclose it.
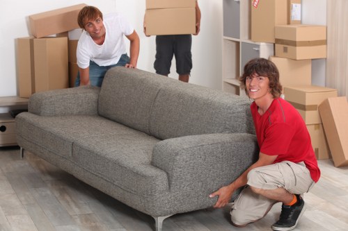
<instances>
[{"instance_id":1,"label":"cardboard boxes carried by the standing person in black shorts","mask_svg":"<svg viewBox=\"0 0 348 231\"><path fill-rule=\"evenodd\" d=\"M146 35L196 33L196 0L146 0Z\"/></svg>"}]
</instances>

